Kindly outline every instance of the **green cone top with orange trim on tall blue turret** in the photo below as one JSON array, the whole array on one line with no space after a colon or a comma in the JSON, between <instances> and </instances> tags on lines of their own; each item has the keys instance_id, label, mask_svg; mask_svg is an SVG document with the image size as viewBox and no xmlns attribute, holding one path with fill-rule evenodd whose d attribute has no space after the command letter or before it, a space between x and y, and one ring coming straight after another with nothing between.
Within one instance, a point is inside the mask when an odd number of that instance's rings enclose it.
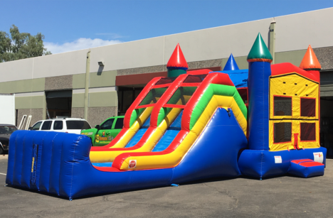
<instances>
[{"instance_id":1,"label":"green cone top with orange trim on tall blue turret","mask_svg":"<svg viewBox=\"0 0 333 218\"><path fill-rule=\"evenodd\" d=\"M272 62L273 60L270 50L268 50L260 33L258 33L255 43L253 43L250 53L248 53L247 60L248 62Z\"/></svg>"}]
</instances>

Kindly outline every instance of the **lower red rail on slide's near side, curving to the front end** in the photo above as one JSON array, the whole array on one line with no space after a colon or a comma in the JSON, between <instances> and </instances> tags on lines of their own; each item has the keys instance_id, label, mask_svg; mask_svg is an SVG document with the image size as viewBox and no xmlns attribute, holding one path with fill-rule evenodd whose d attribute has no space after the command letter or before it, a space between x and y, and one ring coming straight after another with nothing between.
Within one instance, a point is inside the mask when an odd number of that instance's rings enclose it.
<instances>
[{"instance_id":1,"label":"lower red rail on slide's near side, curving to the front end","mask_svg":"<svg viewBox=\"0 0 333 218\"><path fill-rule=\"evenodd\" d=\"M122 163L127 158L130 157L136 157L136 156L161 156L164 154L168 154L173 152L181 143L181 141L184 140L185 136L189 133L189 131L179 131L179 133L176 135L174 140L171 142L168 148L166 148L164 151L159 152L139 152L139 153L122 153L119 156L115 158L115 160L112 163L112 168L120 169L122 166Z\"/></svg>"}]
</instances>

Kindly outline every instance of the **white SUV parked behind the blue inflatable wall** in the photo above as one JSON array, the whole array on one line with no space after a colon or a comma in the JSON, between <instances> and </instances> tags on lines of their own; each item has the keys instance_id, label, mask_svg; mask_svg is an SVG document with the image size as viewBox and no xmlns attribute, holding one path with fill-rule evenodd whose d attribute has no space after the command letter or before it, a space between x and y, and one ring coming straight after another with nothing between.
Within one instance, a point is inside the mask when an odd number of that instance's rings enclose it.
<instances>
[{"instance_id":1,"label":"white SUV parked behind the blue inflatable wall","mask_svg":"<svg viewBox=\"0 0 333 218\"><path fill-rule=\"evenodd\" d=\"M91 129L85 119L80 118L57 118L38 121L30 130L60 131L63 133L80 134L83 129Z\"/></svg>"}]
</instances>

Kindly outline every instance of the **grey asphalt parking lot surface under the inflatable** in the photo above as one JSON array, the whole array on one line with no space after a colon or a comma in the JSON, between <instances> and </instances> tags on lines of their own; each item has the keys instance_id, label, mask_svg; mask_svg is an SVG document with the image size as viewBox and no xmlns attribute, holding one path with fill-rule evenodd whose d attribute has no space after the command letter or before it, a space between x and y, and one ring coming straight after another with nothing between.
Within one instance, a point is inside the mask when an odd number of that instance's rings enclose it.
<instances>
[{"instance_id":1,"label":"grey asphalt parking lot surface under the inflatable","mask_svg":"<svg viewBox=\"0 0 333 218\"><path fill-rule=\"evenodd\" d=\"M0 217L333 217L333 160L325 175L266 180L205 180L179 187L65 200L5 187L0 156Z\"/></svg>"}]
</instances>

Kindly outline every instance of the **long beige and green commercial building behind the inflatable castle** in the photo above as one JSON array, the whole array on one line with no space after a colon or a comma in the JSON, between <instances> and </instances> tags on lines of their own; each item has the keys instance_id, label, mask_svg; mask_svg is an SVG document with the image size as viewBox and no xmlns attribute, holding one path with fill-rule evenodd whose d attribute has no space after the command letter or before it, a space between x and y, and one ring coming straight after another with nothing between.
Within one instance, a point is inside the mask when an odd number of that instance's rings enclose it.
<instances>
[{"instance_id":1,"label":"long beige and green commercial building behind the inflatable castle","mask_svg":"<svg viewBox=\"0 0 333 218\"><path fill-rule=\"evenodd\" d=\"M219 26L0 64L0 93L15 93L16 120L83 117L91 125L125 114L149 80L166 76L176 44L189 70L223 70L231 53L240 69L260 32L273 64L300 65L308 45L322 65L322 144L333 146L333 8Z\"/></svg>"}]
</instances>

